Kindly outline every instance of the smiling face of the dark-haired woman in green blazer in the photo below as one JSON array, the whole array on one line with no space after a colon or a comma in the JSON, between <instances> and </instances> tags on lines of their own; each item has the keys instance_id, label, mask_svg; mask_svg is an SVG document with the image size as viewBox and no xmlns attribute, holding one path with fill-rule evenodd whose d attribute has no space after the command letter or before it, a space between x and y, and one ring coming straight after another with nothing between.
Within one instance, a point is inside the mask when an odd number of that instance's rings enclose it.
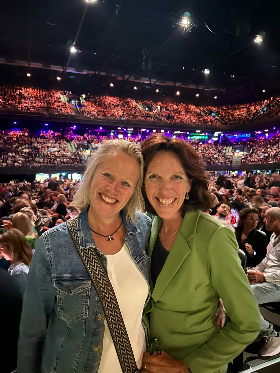
<instances>
[{"instance_id":1,"label":"smiling face of the dark-haired woman in green blazer","mask_svg":"<svg viewBox=\"0 0 280 373\"><path fill-rule=\"evenodd\" d=\"M145 190L150 204L162 219L180 215L191 186L192 181L175 153L159 151L155 154L146 172Z\"/></svg>"}]
</instances>

